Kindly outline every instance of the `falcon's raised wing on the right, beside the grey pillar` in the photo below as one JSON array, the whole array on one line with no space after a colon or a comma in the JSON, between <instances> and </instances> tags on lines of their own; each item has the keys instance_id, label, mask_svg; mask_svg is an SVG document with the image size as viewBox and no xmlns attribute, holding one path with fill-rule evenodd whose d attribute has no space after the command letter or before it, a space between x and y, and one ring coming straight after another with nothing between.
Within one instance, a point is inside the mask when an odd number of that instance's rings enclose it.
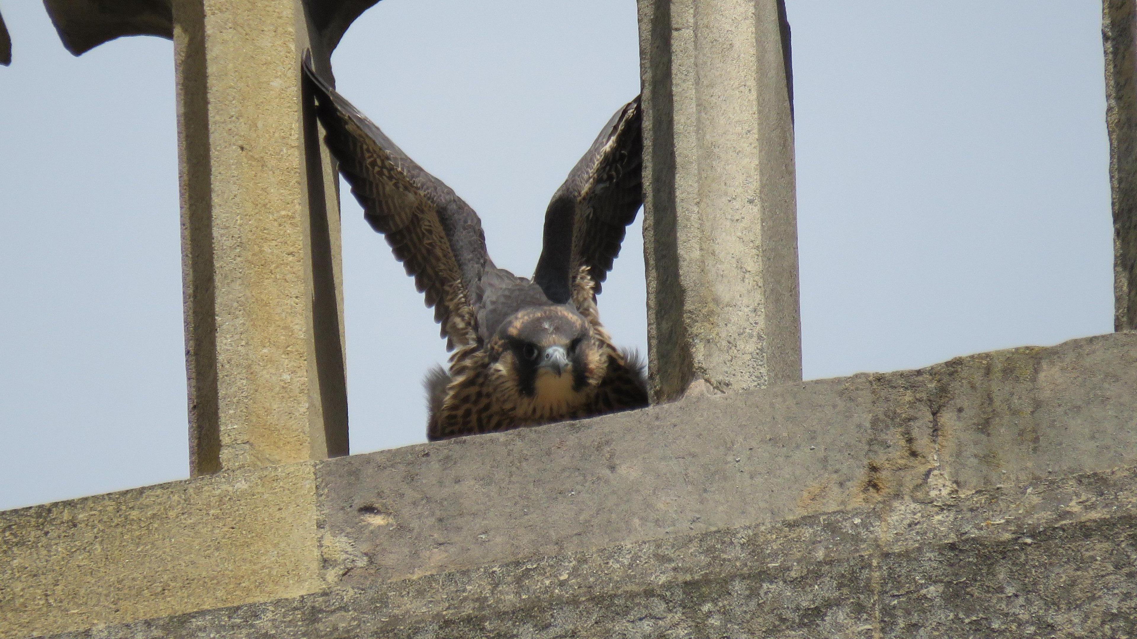
<instances>
[{"instance_id":1,"label":"falcon's raised wing on the right, beside the grey pillar","mask_svg":"<svg viewBox=\"0 0 1137 639\"><path fill-rule=\"evenodd\" d=\"M625 227L644 204L640 99L604 126L545 211L545 240L533 281L555 302L571 298L575 274L588 267L594 293L620 255Z\"/></svg>"}]
</instances>

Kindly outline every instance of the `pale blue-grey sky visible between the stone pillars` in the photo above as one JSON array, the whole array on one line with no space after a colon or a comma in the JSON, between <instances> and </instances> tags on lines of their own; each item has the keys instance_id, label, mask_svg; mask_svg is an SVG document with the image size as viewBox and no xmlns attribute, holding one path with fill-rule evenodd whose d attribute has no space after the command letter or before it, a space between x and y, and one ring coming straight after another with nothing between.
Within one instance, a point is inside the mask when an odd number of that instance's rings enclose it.
<instances>
[{"instance_id":1,"label":"pale blue-grey sky visible between the stone pillars","mask_svg":"<svg viewBox=\"0 0 1137 639\"><path fill-rule=\"evenodd\" d=\"M0 0L0 509L188 476L171 42L73 58ZM1112 330L1096 0L788 0L806 379ZM632 0L383 0L340 91L529 275L549 196L639 91ZM425 439L443 362L343 190L352 453ZM639 223L600 297L645 349Z\"/></svg>"}]
</instances>

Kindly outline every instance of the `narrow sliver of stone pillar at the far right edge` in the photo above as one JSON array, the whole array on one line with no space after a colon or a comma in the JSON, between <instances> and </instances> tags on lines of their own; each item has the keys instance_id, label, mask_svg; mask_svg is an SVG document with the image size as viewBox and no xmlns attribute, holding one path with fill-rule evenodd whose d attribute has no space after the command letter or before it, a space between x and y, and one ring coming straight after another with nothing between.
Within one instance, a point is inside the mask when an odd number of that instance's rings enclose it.
<instances>
[{"instance_id":1,"label":"narrow sliver of stone pillar at the far right edge","mask_svg":"<svg viewBox=\"0 0 1137 639\"><path fill-rule=\"evenodd\" d=\"M1137 330L1137 84L1134 0L1102 1L1113 193L1113 329Z\"/></svg>"}]
</instances>

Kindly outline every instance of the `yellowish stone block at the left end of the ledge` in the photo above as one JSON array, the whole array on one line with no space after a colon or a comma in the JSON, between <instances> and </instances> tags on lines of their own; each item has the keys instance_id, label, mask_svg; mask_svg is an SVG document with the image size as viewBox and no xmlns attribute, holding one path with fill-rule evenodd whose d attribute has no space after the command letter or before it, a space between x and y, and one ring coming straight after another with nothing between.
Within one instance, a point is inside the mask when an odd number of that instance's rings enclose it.
<instances>
[{"instance_id":1,"label":"yellowish stone block at the left end of the ledge","mask_svg":"<svg viewBox=\"0 0 1137 639\"><path fill-rule=\"evenodd\" d=\"M0 513L0 637L312 592L315 492L294 464Z\"/></svg>"}]
</instances>

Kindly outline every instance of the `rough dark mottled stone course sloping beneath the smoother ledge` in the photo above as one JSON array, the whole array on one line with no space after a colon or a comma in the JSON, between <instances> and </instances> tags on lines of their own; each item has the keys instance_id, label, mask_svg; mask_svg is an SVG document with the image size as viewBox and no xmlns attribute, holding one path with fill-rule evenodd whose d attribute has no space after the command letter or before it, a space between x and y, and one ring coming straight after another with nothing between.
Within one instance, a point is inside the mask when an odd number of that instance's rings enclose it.
<instances>
[{"instance_id":1,"label":"rough dark mottled stone course sloping beneath the smoother ledge","mask_svg":"<svg viewBox=\"0 0 1137 639\"><path fill-rule=\"evenodd\" d=\"M1135 524L1126 468L66 637L1135 637Z\"/></svg>"}]
</instances>

